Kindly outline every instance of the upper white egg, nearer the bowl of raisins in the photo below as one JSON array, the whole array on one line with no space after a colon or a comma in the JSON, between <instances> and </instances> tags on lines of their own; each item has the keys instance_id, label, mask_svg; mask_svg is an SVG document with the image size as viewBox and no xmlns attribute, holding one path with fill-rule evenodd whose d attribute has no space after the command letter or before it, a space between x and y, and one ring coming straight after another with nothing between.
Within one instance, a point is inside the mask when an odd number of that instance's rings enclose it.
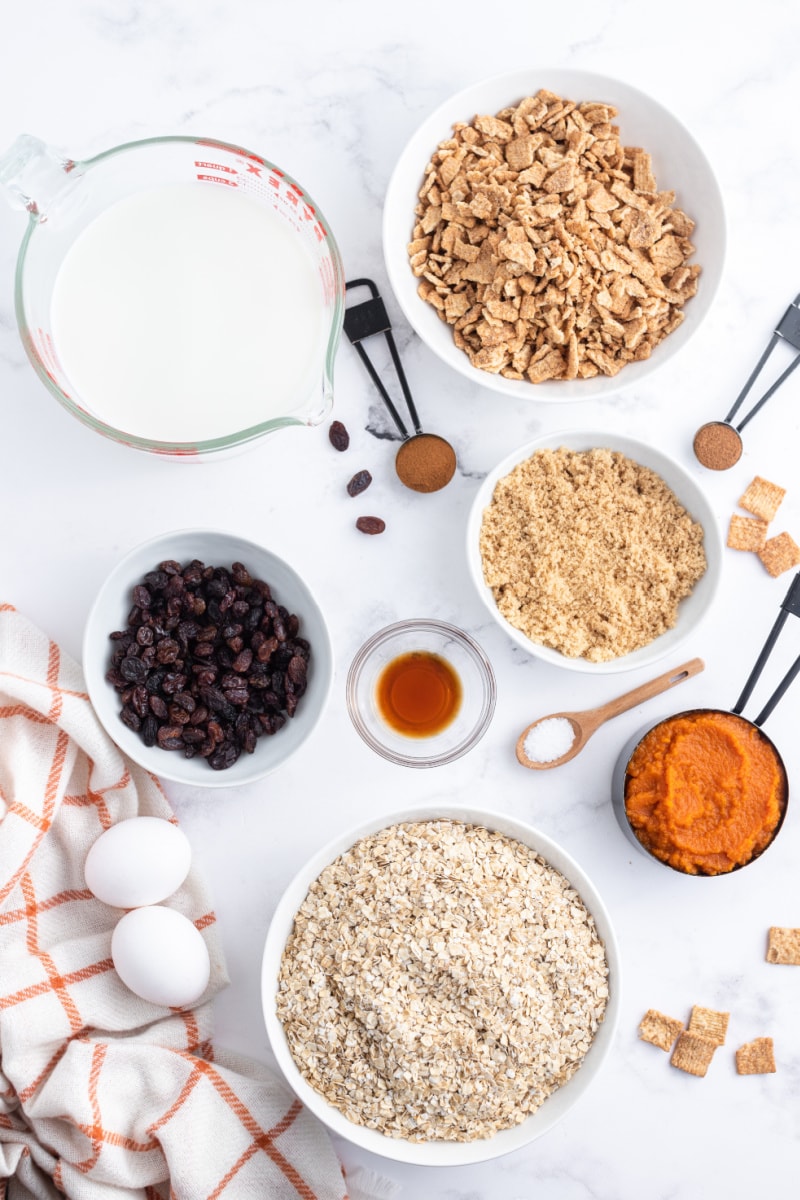
<instances>
[{"instance_id":1,"label":"upper white egg, nearer the bowl of raisins","mask_svg":"<svg viewBox=\"0 0 800 1200\"><path fill-rule=\"evenodd\" d=\"M158 904L188 875L192 848L163 817L128 817L102 833L86 854L86 887L115 908Z\"/></svg>"}]
</instances>

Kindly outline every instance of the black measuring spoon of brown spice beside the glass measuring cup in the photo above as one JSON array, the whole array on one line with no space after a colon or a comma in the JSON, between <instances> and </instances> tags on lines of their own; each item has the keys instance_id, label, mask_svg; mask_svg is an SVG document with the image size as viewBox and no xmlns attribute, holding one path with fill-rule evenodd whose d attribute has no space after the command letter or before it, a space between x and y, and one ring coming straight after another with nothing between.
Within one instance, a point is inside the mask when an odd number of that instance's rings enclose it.
<instances>
[{"instance_id":1,"label":"black measuring spoon of brown spice beside the glass measuring cup","mask_svg":"<svg viewBox=\"0 0 800 1200\"><path fill-rule=\"evenodd\" d=\"M349 283L345 283L345 288L348 289L357 287L369 288L371 299L365 300L361 304L351 305L345 310L344 332L350 342L353 342L359 358L363 362L369 378L378 389L384 404L389 409L389 413L403 438L403 444L397 451L397 457L395 460L397 478L405 485L405 487L410 487L414 492L438 492L445 487L456 474L456 451L450 443L445 440L445 438L439 437L437 433L422 432L420 418L405 378L405 372L403 371L403 365L399 360L399 354L397 353L397 346L392 336L391 323L389 320L384 301L378 294L378 288L372 280L351 280ZM392 356L392 362L395 364L397 378L414 425L414 434L409 433L391 396L386 391L383 380L361 344L365 337L371 337L373 334L384 334L386 342L389 343L389 350Z\"/></svg>"}]
</instances>

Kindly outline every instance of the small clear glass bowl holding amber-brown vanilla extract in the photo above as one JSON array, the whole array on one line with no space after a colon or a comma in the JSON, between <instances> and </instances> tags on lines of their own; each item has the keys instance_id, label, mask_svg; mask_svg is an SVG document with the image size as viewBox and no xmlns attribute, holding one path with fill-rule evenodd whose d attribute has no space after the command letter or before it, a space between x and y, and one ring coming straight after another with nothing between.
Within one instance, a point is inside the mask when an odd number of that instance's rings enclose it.
<instances>
[{"instance_id":1,"label":"small clear glass bowl holding amber-brown vanilla extract","mask_svg":"<svg viewBox=\"0 0 800 1200\"><path fill-rule=\"evenodd\" d=\"M401 620L361 647L347 706L375 754L403 767L461 758L494 714L492 664L474 638L443 620Z\"/></svg>"}]
</instances>

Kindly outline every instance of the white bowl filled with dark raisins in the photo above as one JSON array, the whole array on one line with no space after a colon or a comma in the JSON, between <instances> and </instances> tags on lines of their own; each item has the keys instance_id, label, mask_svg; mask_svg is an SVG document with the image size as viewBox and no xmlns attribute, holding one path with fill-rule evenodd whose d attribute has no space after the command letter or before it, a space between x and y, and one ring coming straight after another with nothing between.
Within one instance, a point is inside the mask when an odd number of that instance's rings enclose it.
<instances>
[{"instance_id":1,"label":"white bowl filled with dark raisins","mask_svg":"<svg viewBox=\"0 0 800 1200\"><path fill-rule=\"evenodd\" d=\"M162 779L251 784L317 726L333 678L321 608L285 559L235 534L162 534L118 563L83 646L106 732Z\"/></svg>"}]
</instances>

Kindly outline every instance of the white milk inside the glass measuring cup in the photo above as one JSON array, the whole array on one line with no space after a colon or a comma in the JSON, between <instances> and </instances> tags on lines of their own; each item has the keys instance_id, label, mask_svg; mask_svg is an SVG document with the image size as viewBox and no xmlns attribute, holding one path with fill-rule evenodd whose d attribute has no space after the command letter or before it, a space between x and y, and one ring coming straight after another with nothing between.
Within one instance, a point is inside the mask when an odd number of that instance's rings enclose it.
<instances>
[{"instance_id":1,"label":"white milk inside the glass measuring cup","mask_svg":"<svg viewBox=\"0 0 800 1200\"><path fill-rule=\"evenodd\" d=\"M114 204L67 252L53 341L74 398L161 442L224 437L321 388L323 292L301 238L227 187L174 184Z\"/></svg>"}]
</instances>

